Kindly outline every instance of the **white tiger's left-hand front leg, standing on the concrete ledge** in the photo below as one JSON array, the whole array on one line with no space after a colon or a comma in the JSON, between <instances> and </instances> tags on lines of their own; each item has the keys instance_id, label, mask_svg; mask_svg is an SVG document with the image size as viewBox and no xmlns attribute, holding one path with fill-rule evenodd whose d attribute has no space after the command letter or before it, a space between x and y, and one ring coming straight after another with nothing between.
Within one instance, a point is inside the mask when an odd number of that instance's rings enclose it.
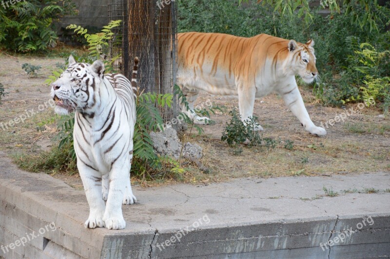
<instances>
[{"instance_id":1,"label":"white tiger's left-hand front leg, standing on the concrete ledge","mask_svg":"<svg viewBox=\"0 0 390 259\"><path fill-rule=\"evenodd\" d=\"M84 226L86 228L104 227L103 215L105 205L103 199L101 199L101 175L80 162L80 160L78 160L77 164L89 204L89 217Z\"/></svg>"}]
</instances>

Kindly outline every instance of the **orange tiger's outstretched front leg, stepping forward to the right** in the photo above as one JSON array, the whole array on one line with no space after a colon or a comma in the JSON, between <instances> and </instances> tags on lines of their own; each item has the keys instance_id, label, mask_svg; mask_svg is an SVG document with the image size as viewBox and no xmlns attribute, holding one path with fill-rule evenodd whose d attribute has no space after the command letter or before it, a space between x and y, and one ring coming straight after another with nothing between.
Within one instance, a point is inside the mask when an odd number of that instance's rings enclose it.
<instances>
[{"instance_id":1,"label":"orange tiger's outstretched front leg, stepping forward to the right","mask_svg":"<svg viewBox=\"0 0 390 259\"><path fill-rule=\"evenodd\" d=\"M284 88L279 91L280 95L283 96L284 102L286 103L287 107L298 118L302 126L307 131L317 136L325 136L326 130L324 128L315 126L310 119L309 113L306 110L301 93L299 92L296 83L292 84L292 86L289 88Z\"/></svg>"}]
</instances>

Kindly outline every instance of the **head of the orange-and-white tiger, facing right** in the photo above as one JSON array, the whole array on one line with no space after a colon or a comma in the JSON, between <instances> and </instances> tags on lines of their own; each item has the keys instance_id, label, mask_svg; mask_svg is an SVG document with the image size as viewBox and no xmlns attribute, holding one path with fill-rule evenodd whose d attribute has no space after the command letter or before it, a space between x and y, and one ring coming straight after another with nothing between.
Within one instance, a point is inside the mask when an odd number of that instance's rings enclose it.
<instances>
[{"instance_id":1,"label":"head of the orange-and-white tiger, facing right","mask_svg":"<svg viewBox=\"0 0 390 259\"><path fill-rule=\"evenodd\" d=\"M291 68L295 74L306 83L312 83L317 78L318 70L315 67L314 41L311 39L306 44L290 40L288 50L290 52Z\"/></svg>"}]
</instances>

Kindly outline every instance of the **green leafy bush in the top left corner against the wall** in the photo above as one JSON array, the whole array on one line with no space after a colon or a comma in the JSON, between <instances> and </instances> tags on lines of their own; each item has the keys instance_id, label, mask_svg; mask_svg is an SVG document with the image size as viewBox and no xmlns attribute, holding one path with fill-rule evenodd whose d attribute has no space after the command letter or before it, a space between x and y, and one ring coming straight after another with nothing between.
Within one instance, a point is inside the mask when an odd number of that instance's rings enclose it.
<instances>
[{"instance_id":1,"label":"green leafy bush in the top left corner against the wall","mask_svg":"<svg viewBox=\"0 0 390 259\"><path fill-rule=\"evenodd\" d=\"M45 52L58 39L54 23L75 14L74 10L71 0L28 0L0 6L0 46L16 52Z\"/></svg>"}]
</instances>

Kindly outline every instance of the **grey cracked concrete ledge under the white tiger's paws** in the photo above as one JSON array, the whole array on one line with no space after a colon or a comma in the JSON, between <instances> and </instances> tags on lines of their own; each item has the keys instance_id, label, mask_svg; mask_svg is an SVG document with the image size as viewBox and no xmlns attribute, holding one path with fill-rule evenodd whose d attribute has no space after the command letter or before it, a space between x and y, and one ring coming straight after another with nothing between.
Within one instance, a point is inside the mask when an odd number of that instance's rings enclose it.
<instances>
[{"instance_id":1,"label":"grey cracked concrete ledge under the white tiger's paws","mask_svg":"<svg viewBox=\"0 0 390 259\"><path fill-rule=\"evenodd\" d=\"M8 251L0 249L0 257L390 256L390 193L307 200L324 194L324 185L335 191L363 187L384 190L390 188L389 180L389 172L379 172L331 178L237 179L208 186L136 187L139 203L122 207L126 229L89 230L83 226L88 217L83 191L49 175L23 172L2 156L0 247L7 246ZM55 229L50 228L51 222ZM335 240L343 233L348 236ZM31 234L36 236L31 238ZM31 239L24 245L16 245L17 240L27 237ZM14 249L10 244L15 244Z\"/></svg>"}]
</instances>

